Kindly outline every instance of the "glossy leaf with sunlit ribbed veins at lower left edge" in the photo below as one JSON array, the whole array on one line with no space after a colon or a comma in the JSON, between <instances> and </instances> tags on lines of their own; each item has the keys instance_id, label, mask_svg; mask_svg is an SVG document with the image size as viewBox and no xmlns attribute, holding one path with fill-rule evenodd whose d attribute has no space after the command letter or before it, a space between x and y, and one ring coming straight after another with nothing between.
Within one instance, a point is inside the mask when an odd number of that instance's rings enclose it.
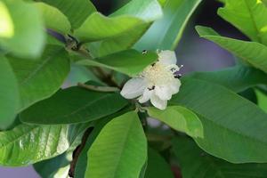
<instances>
[{"instance_id":1,"label":"glossy leaf with sunlit ribbed veins at lower left edge","mask_svg":"<svg viewBox=\"0 0 267 178\"><path fill-rule=\"evenodd\" d=\"M27 166L69 149L85 125L18 125L0 133L0 164Z\"/></svg>"}]
</instances>

